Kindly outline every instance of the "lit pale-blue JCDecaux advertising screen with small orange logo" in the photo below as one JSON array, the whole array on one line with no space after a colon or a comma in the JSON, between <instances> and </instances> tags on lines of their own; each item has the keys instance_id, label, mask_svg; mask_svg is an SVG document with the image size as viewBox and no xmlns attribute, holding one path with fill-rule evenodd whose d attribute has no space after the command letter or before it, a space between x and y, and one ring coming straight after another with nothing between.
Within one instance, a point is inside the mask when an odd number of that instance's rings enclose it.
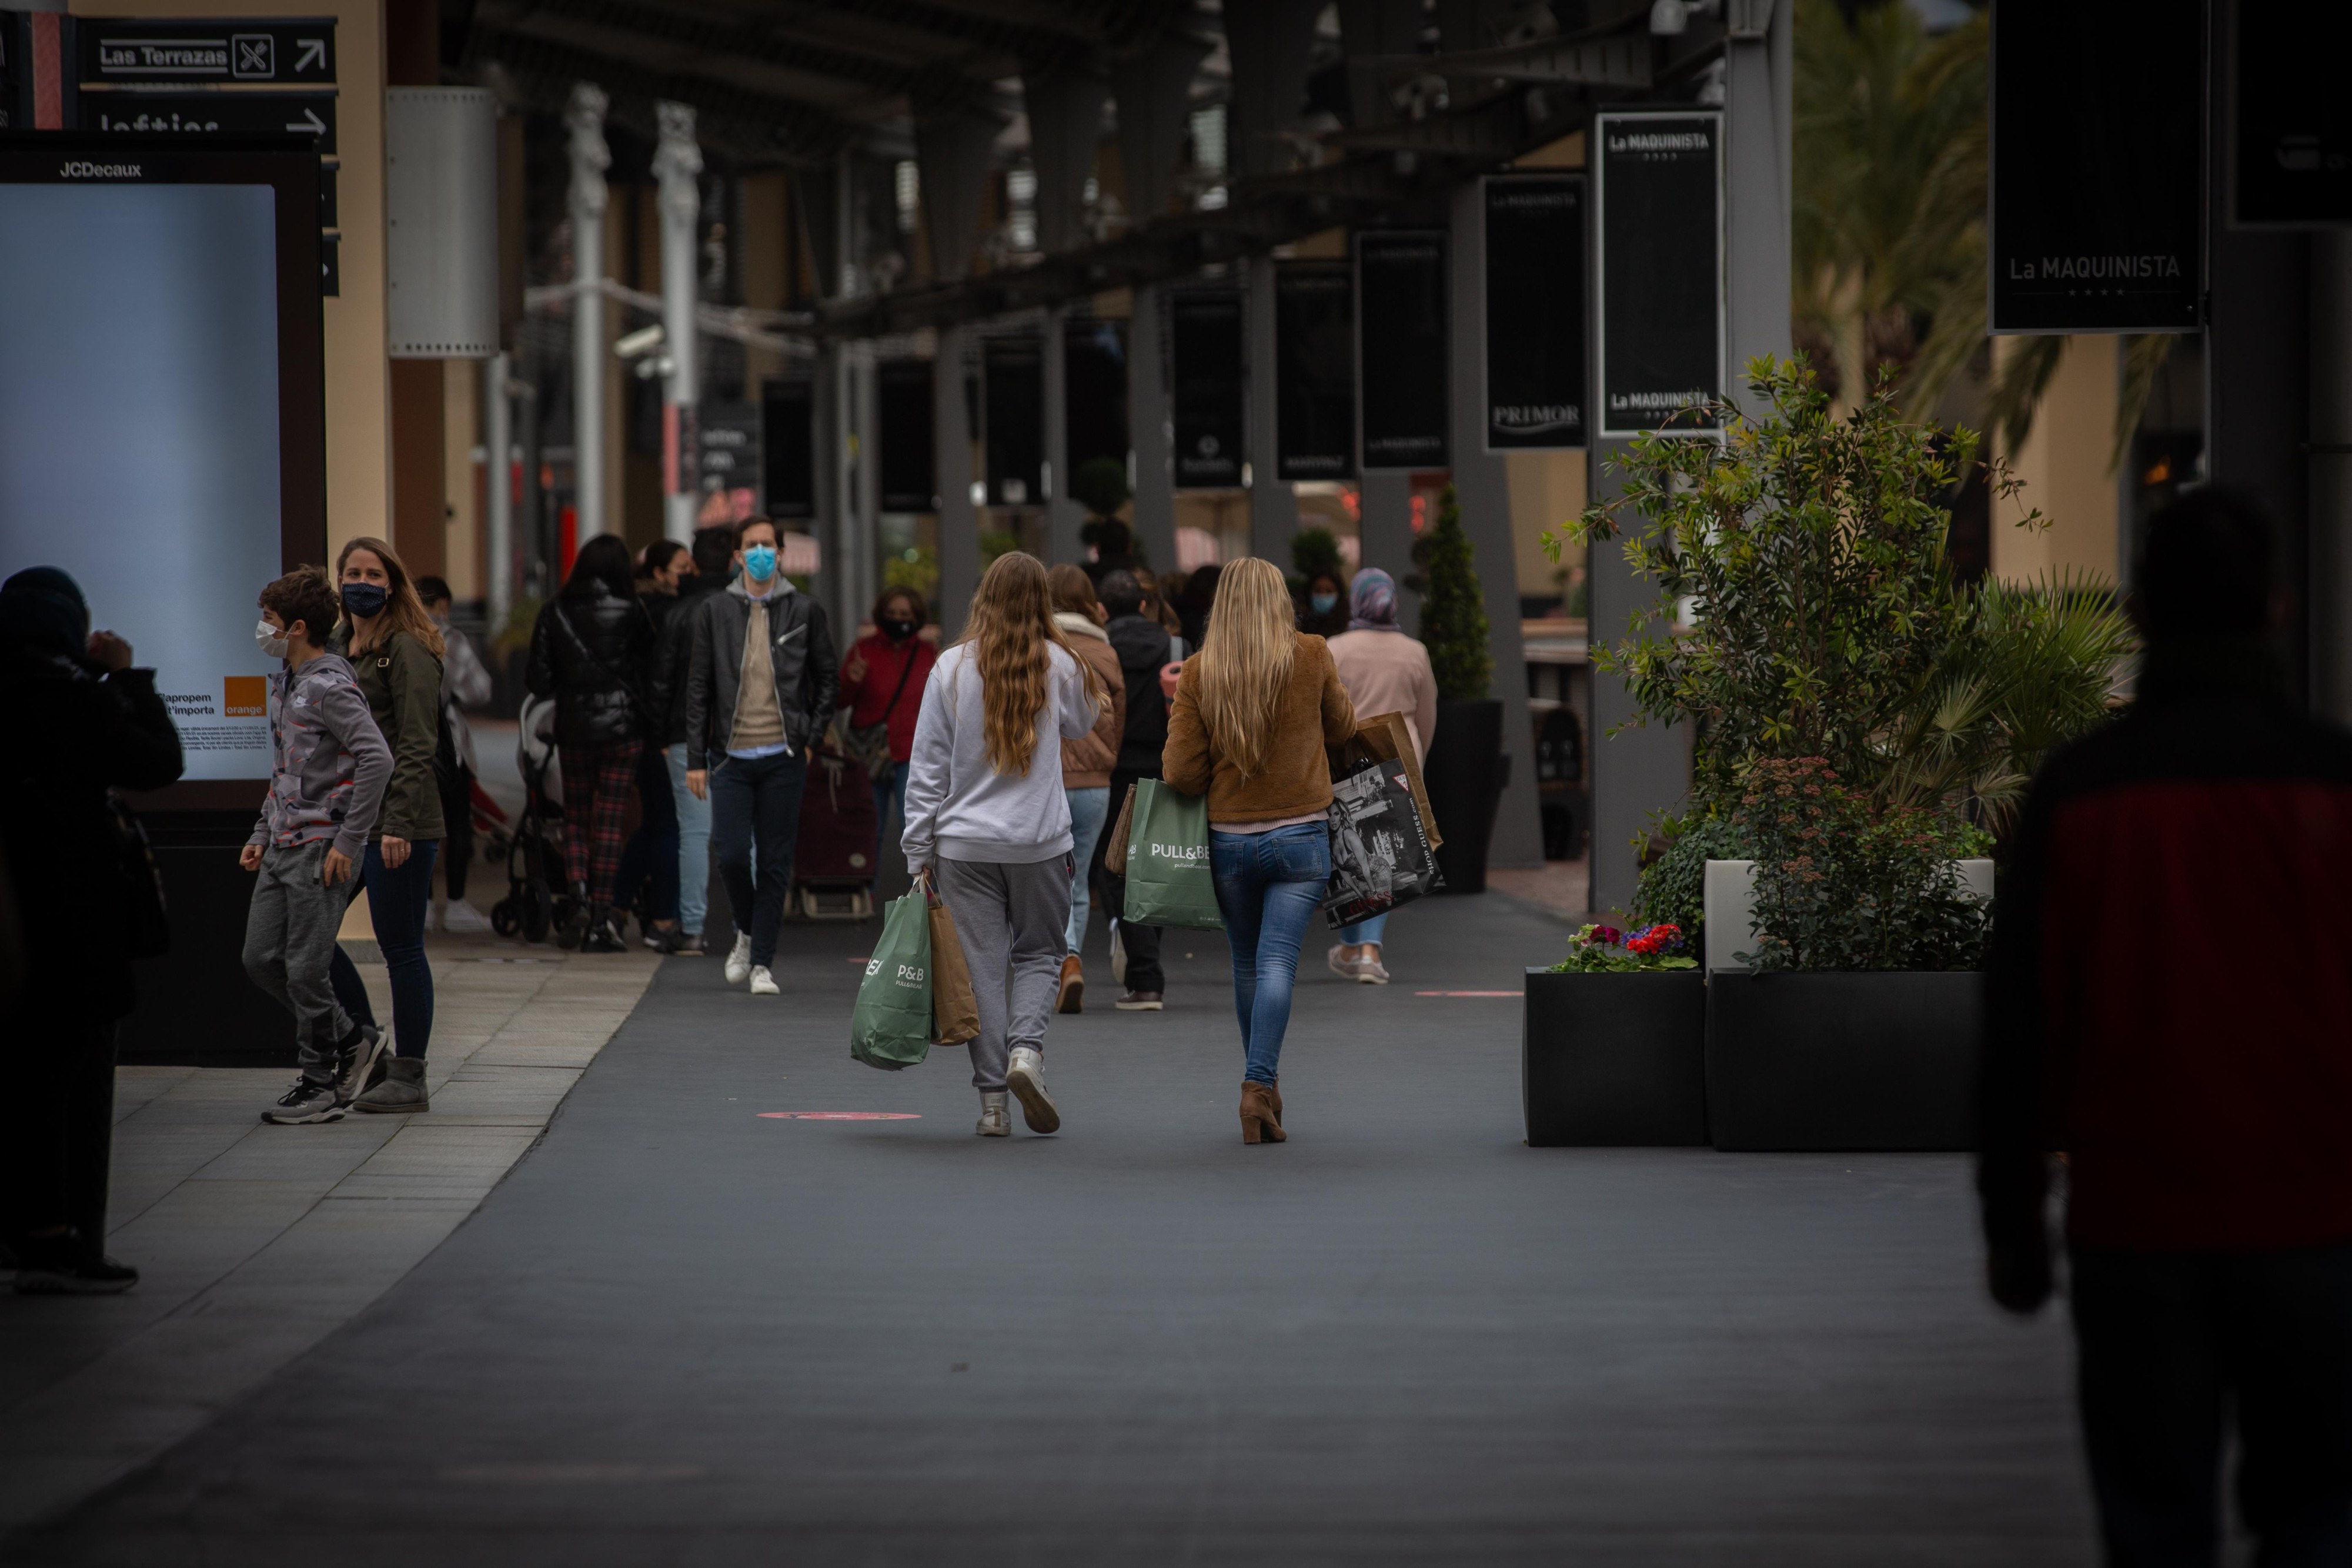
<instances>
[{"instance_id":1,"label":"lit pale-blue JCDecaux advertising screen with small orange logo","mask_svg":"<svg viewBox=\"0 0 2352 1568\"><path fill-rule=\"evenodd\" d=\"M318 299L315 153L0 139L0 576L73 574L186 780L270 771L254 597L327 548Z\"/></svg>"}]
</instances>

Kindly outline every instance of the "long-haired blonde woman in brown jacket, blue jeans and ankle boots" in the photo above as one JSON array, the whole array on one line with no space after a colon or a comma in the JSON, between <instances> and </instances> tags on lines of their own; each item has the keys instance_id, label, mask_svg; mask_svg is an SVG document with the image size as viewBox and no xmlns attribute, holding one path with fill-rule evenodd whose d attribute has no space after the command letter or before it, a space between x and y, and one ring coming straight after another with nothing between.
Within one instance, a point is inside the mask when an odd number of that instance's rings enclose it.
<instances>
[{"instance_id":1,"label":"long-haired blonde woman in brown jacket, blue jeans and ankle boots","mask_svg":"<svg viewBox=\"0 0 2352 1568\"><path fill-rule=\"evenodd\" d=\"M1282 1143L1282 1034L1291 1023L1298 943L1331 882L1331 764L1324 745L1355 733L1355 705L1322 637L1298 630L1272 562L1218 576L1200 654L1169 712L1162 776L1209 797L1209 867L1232 943L1242 1023L1242 1143Z\"/></svg>"}]
</instances>

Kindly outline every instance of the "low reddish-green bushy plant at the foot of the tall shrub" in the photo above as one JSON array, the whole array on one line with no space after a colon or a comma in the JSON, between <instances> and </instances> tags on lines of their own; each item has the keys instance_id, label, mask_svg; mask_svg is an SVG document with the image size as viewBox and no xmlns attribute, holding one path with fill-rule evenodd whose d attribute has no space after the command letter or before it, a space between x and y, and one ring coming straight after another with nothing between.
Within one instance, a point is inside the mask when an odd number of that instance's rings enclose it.
<instances>
[{"instance_id":1,"label":"low reddish-green bushy plant at the foot of the tall shrub","mask_svg":"<svg viewBox=\"0 0 2352 1568\"><path fill-rule=\"evenodd\" d=\"M1889 806L1823 757L1766 757L1731 820L1755 846L1757 969L1976 969L1992 907L1952 865L1987 835L1955 811Z\"/></svg>"}]
</instances>

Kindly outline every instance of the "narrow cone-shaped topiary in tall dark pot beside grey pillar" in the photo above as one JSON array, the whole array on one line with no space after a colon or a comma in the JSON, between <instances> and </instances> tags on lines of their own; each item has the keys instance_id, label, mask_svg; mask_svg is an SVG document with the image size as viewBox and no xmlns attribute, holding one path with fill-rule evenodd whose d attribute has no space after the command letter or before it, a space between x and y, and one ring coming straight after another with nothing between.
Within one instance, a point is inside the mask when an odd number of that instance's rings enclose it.
<instances>
[{"instance_id":1,"label":"narrow cone-shaped topiary in tall dark pot beside grey pillar","mask_svg":"<svg viewBox=\"0 0 2352 1568\"><path fill-rule=\"evenodd\" d=\"M1486 844L1503 799L1503 703L1494 696L1486 646L1486 599L1472 564L1461 503L1446 484L1437 522L1414 541L1416 571L1404 585L1421 595L1421 644L1437 675L1437 733L1423 783L1444 844L1437 870L1446 893L1486 891Z\"/></svg>"}]
</instances>

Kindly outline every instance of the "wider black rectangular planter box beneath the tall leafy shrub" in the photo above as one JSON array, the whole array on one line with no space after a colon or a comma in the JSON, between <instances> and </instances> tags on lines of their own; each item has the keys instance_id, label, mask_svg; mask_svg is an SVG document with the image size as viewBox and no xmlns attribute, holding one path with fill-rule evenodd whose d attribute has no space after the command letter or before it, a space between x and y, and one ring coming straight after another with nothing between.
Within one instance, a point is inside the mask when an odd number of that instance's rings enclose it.
<instances>
[{"instance_id":1,"label":"wider black rectangular planter box beneath the tall leafy shrub","mask_svg":"<svg viewBox=\"0 0 2352 1568\"><path fill-rule=\"evenodd\" d=\"M1980 980L1971 971L1715 971L1715 1147L1976 1147Z\"/></svg>"}]
</instances>

